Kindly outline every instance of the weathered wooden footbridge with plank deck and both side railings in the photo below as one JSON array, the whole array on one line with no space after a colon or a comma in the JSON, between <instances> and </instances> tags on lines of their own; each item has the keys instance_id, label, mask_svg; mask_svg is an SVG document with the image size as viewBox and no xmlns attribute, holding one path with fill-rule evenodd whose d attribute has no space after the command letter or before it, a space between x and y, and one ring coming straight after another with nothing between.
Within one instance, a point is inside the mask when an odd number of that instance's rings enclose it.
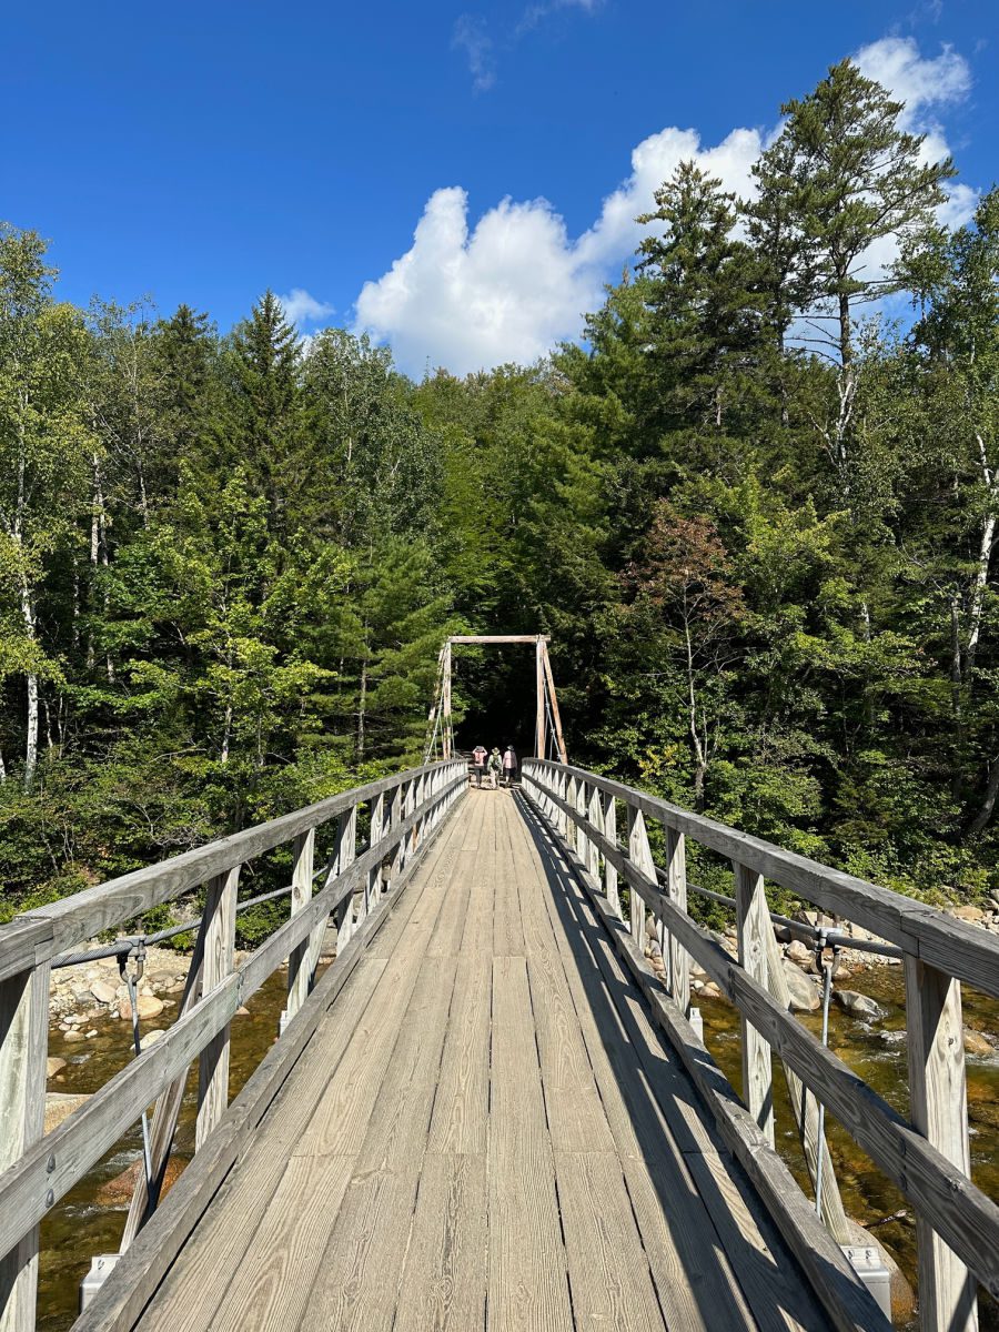
<instances>
[{"instance_id":1,"label":"weathered wooden footbridge with plank deck and both side railings","mask_svg":"<svg viewBox=\"0 0 999 1332\"><path fill-rule=\"evenodd\" d=\"M734 867L739 960L687 914L690 840ZM290 915L237 966L240 876L268 864ZM765 879L900 950L907 1119L789 1012ZM53 963L200 886L173 1026L43 1135ZM742 1015L742 1099L691 958ZM285 962L282 1034L228 1103L230 1019ZM986 931L562 762L514 791L450 758L348 791L0 931L0 1328L35 1327L39 1227L153 1103L79 1332L884 1332L821 1108L915 1211L922 1327L975 1328L999 1208L968 1177L960 982L999 996ZM818 1208L774 1152L773 1055ZM197 1152L159 1201L192 1064Z\"/></svg>"}]
</instances>

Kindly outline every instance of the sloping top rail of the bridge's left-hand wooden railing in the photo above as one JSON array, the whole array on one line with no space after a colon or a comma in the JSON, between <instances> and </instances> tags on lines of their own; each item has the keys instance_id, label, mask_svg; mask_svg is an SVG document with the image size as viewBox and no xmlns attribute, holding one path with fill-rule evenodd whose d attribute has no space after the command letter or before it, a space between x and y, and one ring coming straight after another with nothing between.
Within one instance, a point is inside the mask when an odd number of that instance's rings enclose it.
<instances>
[{"instance_id":1,"label":"sloping top rail of the bridge's left-hand wooden railing","mask_svg":"<svg viewBox=\"0 0 999 1332\"><path fill-rule=\"evenodd\" d=\"M446 766L446 762L440 762L393 773L16 916L11 924L0 927L0 980L284 846L356 805L377 799L404 782Z\"/></svg>"}]
</instances>

